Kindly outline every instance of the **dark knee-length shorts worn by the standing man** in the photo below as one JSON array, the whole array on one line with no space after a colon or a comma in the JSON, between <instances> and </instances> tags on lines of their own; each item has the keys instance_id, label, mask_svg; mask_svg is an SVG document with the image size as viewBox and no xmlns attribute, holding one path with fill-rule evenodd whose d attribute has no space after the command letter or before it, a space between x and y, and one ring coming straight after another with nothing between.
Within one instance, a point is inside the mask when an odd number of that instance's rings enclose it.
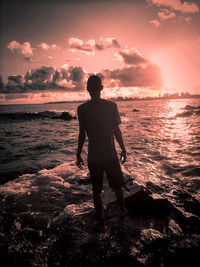
<instances>
[{"instance_id":1,"label":"dark knee-length shorts worn by the standing man","mask_svg":"<svg viewBox=\"0 0 200 267\"><path fill-rule=\"evenodd\" d=\"M103 174L107 176L108 184L112 189L117 189L124 184L124 177L118 160L108 162L88 162L92 189L101 193L103 189Z\"/></svg>"}]
</instances>

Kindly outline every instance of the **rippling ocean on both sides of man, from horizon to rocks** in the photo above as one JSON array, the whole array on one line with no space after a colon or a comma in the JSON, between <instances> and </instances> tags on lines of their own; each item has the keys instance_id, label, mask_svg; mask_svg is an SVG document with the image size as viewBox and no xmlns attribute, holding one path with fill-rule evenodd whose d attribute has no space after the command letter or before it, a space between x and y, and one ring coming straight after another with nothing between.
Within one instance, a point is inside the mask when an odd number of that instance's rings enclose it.
<instances>
[{"instance_id":1,"label":"rippling ocean on both sides of man, from horizon to rocks","mask_svg":"<svg viewBox=\"0 0 200 267\"><path fill-rule=\"evenodd\" d=\"M184 208L183 194L200 201L200 99L116 103L127 149L124 175L177 207ZM0 106L1 211L14 216L15 228L42 235L66 206L76 213L80 203L93 209L87 141L80 170L78 120L60 119L64 111L77 116L79 104Z\"/></svg>"}]
</instances>

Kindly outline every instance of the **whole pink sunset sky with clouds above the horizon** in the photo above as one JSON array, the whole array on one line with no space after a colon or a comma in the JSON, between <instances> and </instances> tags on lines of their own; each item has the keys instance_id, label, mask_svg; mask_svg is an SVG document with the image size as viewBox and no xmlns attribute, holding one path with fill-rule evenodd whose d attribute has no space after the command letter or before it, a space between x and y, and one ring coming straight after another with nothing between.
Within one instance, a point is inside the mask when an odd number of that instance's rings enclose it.
<instances>
[{"instance_id":1,"label":"whole pink sunset sky with clouds above the horizon","mask_svg":"<svg viewBox=\"0 0 200 267\"><path fill-rule=\"evenodd\" d=\"M200 94L199 0L2 0L0 104Z\"/></svg>"}]
</instances>

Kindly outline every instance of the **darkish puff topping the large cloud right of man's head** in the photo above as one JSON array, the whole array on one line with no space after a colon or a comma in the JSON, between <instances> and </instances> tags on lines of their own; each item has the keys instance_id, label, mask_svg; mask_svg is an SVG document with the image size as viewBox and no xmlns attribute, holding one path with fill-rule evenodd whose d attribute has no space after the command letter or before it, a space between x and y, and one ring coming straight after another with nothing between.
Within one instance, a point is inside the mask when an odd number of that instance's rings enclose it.
<instances>
[{"instance_id":1,"label":"darkish puff topping the large cloud right of man's head","mask_svg":"<svg viewBox=\"0 0 200 267\"><path fill-rule=\"evenodd\" d=\"M129 65L139 65L148 62L148 60L145 59L135 47L131 49L122 49L119 52L116 52L114 56L118 60Z\"/></svg>"}]
</instances>

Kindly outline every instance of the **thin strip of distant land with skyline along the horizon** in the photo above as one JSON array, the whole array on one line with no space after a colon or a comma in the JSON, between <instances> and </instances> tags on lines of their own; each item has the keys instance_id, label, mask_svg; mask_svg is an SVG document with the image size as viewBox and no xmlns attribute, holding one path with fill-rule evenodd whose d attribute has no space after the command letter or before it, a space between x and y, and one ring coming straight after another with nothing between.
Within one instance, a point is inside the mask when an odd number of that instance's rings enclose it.
<instances>
[{"instance_id":1,"label":"thin strip of distant land with skyline along the horizon","mask_svg":"<svg viewBox=\"0 0 200 267\"><path fill-rule=\"evenodd\" d=\"M190 93L175 93L175 94L164 94L163 96L157 96L157 97L111 97L108 98L108 100L111 101L141 101L141 100L167 100L167 99L188 99L188 98L200 98L200 94L192 95ZM86 100L73 100L73 101L54 101L54 102L47 102L44 104L56 104L56 103L82 103Z\"/></svg>"}]
</instances>

